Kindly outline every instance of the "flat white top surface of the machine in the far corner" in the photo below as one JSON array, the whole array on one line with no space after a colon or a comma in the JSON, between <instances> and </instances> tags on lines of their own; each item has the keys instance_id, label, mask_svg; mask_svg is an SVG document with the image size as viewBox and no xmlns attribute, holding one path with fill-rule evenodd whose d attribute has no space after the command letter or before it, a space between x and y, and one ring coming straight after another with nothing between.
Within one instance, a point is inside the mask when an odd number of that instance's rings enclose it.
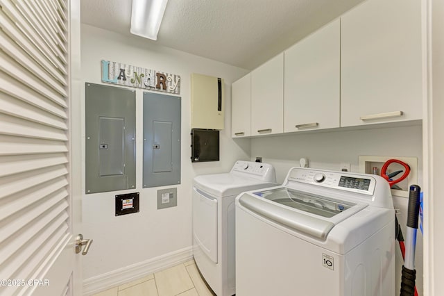
<instances>
[{"instance_id":1,"label":"flat white top surface of the machine in the far corner","mask_svg":"<svg viewBox=\"0 0 444 296\"><path fill-rule=\"evenodd\" d=\"M249 190L275 186L275 183L239 176L237 174L206 174L194 178L194 186L214 197L228 197L239 195Z\"/></svg>"}]
</instances>

